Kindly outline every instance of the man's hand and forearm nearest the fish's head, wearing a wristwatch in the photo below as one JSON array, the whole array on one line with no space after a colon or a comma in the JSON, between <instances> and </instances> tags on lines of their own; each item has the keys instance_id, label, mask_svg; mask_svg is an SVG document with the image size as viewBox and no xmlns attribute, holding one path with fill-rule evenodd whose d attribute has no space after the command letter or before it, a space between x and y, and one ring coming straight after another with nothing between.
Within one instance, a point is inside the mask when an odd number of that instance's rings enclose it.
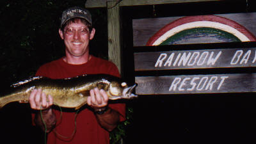
<instances>
[{"instance_id":1,"label":"man's hand and forearm nearest the fish's head, wearing a wristwatch","mask_svg":"<svg viewBox=\"0 0 256 144\"><path fill-rule=\"evenodd\" d=\"M115 129L120 120L120 113L108 107L108 95L104 90L98 88L90 90L87 102L94 109L96 118L104 129L108 131Z\"/></svg>"}]
</instances>

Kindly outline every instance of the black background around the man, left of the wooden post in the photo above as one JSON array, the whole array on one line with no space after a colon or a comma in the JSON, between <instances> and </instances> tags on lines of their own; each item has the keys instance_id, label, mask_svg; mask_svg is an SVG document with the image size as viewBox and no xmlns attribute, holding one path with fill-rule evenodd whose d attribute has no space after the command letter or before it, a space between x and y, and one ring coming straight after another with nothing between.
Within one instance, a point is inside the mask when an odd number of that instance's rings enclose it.
<instances>
[{"instance_id":1,"label":"black background around the man, left of the wooden post","mask_svg":"<svg viewBox=\"0 0 256 144\"><path fill-rule=\"evenodd\" d=\"M0 1L0 95L10 84L28 77L42 64L64 56L58 34L63 10L84 6L82 0L1 0ZM90 10L97 29L90 52L108 58L106 9ZM44 143L44 132L31 125L29 104L10 103L0 109L0 143Z\"/></svg>"}]
</instances>

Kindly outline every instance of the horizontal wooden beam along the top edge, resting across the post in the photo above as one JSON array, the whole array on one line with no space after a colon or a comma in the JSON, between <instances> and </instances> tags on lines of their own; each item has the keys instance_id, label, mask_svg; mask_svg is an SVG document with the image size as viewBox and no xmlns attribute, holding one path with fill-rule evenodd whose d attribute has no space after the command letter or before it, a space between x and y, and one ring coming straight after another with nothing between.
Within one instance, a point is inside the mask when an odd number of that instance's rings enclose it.
<instances>
[{"instance_id":1,"label":"horizontal wooden beam along the top edge, resting across the post","mask_svg":"<svg viewBox=\"0 0 256 144\"><path fill-rule=\"evenodd\" d=\"M206 2L206 1L225 1L225 0L122 0L120 6L139 6L139 5L150 5L150 4L172 4L172 3L189 3L189 2ZM86 8L100 8L106 7L107 3L116 3L118 0L113 2L107 2L107 0L87 0L85 3Z\"/></svg>"}]
</instances>

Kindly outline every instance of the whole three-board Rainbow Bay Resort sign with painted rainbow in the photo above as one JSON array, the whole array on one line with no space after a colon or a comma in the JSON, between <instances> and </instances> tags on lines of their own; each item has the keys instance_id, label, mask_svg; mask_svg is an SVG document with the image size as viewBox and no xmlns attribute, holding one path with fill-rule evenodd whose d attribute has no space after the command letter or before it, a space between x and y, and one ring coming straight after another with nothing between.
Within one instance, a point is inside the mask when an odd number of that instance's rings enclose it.
<instances>
[{"instance_id":1,"label":"whole three-board Rainbow Bay Resort sign with painted rainbow","mask_svg":"<svg viewBox=\"0 0 256 144\"><path fill-rule=\"evenodd\" d=\"M253 19L255 15L256 13L253 12L132 20L134 49L154 45L156 50L145 50L147 52L134 50L136 51L134 70L137 74L135 82L138 83L136 94L256 92L256 73L213 74L211 72L206 75L207 70L210 71L212 68L225 70L232 67L247 67L246 72L251 73L250 67L256 67L256 47L232 48L230 45L231 48L226 49L200 47L198 50L195 47L192 48L193 50L184 50L186 49L184 48L169 51L171 49L167 46L256 42L256 21ZM166 46L161 51L158 49L161 46L157 45ZM204 71L205 75L189 74L193 70L188 69L195 68ZM179 71L182 71L182 74L170 76L172 72L169 73L168 70L174 69L182 69ZM159 71L162 72L161 76L151 75ZM195 72L193 74L196 74ZM163 76L163 73L166 75Z\"/></svg>"}]
</instances>

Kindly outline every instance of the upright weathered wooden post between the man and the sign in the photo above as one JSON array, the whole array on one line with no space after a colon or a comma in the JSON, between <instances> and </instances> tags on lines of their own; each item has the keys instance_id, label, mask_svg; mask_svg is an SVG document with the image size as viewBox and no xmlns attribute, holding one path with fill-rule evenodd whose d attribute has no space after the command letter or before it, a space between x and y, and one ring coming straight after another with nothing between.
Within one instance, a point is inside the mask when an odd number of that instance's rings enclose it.
<instances>
[{"instance_id":1,"label":"upright weathered wooden post between the man and the sign","mask_svg":"<svg viewBox=\"0 0 256 144\"><path fill-rule=\"evenodd\" d=\"M114 6L114 7L113 7ZM108 58L121 72L120 16L119 4L108 3Z\"/></svg>"}]
</instances>

